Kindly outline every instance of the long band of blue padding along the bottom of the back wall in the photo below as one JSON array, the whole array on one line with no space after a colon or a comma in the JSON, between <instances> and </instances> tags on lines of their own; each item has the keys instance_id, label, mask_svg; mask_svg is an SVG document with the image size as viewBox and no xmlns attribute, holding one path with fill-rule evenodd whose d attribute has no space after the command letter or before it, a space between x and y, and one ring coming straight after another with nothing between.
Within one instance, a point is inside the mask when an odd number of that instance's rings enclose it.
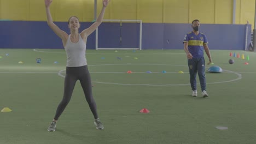
<instances>
[{"instance_id":1,"label":"long band of blue padding along the bottom of the back wall","mask_svg":"<svg viewBox=\"0 0 256 144\"><path fill-rule=\"evenodd\" d=\"M55 22L69 34L67 22ZM81 22L80 31L91 26ZM248 25L247 48L251 41ZM183 49L183 39L191 31L187 23L143 23L142 49ZM212 50L245 50L246 25L201 24ZM121 37L121 41L120 41ZM98 28L98 47L139 47L139 23L103 22ZM62 41L45 21L0 21L0 48L63 49ZM87 49L95 49L95 32L87 40Z\"/></svg>"}]
</instances>

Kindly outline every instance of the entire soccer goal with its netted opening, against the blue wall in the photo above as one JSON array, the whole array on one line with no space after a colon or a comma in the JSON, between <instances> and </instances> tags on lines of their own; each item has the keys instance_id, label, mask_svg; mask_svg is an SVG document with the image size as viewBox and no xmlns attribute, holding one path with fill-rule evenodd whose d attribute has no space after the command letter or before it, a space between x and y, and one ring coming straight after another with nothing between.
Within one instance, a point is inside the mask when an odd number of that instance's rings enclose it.
<instances>
[{"instance_id":1,"label":"entire soccer goal with its netted opening, against the blue wall","mask_svg":"<svg viewBox=\"0 0 256 144\"><path fill-rule=\"evenodd\" d=\"M142 20L103 20L96 50L142 50Z\"/></svg>"}]
</instances>

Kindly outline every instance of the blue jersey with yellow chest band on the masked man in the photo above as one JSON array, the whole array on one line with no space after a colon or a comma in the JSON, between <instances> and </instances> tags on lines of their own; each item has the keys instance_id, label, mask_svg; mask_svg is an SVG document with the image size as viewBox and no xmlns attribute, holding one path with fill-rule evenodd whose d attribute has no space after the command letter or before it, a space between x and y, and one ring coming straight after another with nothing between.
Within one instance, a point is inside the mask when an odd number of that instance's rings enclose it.
<instances>
[{"instance_id":1,"label":"blue jersey with yellow chest band on the masked man","mask_svg":"<svg viewBox=\"0 0 256 144\"><path fill-rule=\"evenodd\" d=\"M195 35L190 32L185 35L184 43L188 43L188 50L193 57L203 57L203 45L208 44L208 40L203 33L199 32L198 35Z\"/></svg>"}]
</instances>

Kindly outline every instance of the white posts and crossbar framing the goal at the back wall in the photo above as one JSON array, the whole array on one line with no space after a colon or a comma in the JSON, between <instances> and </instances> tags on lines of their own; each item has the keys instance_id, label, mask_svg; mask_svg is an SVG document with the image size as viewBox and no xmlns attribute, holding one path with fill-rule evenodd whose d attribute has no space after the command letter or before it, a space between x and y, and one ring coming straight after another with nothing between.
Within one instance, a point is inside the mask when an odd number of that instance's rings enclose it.
<instances>
[{"instance_id":1,"label":"white posts and crossbar framing the goal at the back wall","mask_svg":"<svg viewBox=\"0 0 256 144\"><path fill-rule=\"evenodd\" d=\"M138 46L135 47L99 47L99 39L98 39L98 31L99 29L96 29L96 34L95 34L95 49L96 50L142 50L142 20L102 20L102 22L114 22L114 23L120 23L120 42L122 41L122 34L121 34L121 28L122 28L122 22L129 23L139 23L139 39L138 39ZM136 30L135 30L136 31Z\"/></svg>"}]
</instances>

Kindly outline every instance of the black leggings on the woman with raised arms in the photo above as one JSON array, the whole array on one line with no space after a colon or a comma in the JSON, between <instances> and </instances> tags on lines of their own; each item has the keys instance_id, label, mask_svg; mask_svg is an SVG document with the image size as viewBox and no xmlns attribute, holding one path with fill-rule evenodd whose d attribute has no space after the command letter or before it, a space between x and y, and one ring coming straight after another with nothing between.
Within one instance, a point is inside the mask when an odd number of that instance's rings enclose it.
<instances>
[{"instance_id":1,"label":"black leggings on the woman with raised arms","mask_svg":"<svg viewBox=\"0 0 256 144\"><path fill-rule=\"evenodd\" d=\"M81 83L85 99L89 104L94 118L98 118L96 103L92 97L91 76L88 70L88 66L84 65L82 67L66 67L64 94L61 103L57 107L57 111L54 117L56 121L59 119L61 113L65 110L67 104L69 103L74 90L75 82L77 82L77 80L79 80Z\"/></svg>"}]
</instances>

